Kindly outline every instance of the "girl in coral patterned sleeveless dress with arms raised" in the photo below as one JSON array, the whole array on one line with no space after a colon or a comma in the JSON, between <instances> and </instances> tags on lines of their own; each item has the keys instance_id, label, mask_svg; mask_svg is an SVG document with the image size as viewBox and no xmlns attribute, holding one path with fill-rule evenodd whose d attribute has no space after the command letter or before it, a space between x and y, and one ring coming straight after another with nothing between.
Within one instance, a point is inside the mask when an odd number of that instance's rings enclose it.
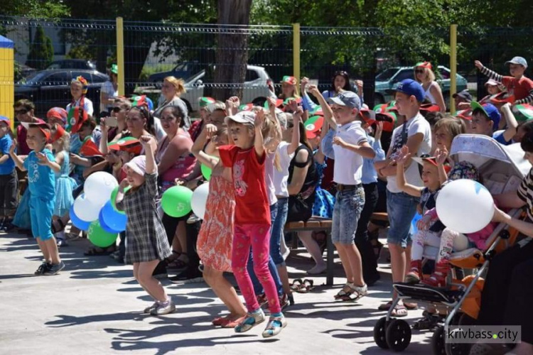
<instances>
[{"instance_id":1,"label":"girl in coral patterned sleeveless dress with arms raised","mask_svg":"<svg viewBox=\"0 0 533 355\"><path fill-rule=\"evenodd\" d=\"M197 250L204 266L205 282L230 310L229 315L215 318L212 324L222 328L235 328L239 322L244 320L246 308L239 300L235 288L223 275L225 272L232 272L235 192L232 186L231 169L225 168L219 158L212 156L218 155L218 151L212 151L212 155L202 151L209 138L211 142L216 141L217 146L227 146L230 143L227 129L217 131L215 126L207 124L191 149L201 163L212 169L204 220L198 234Z\"/></svg>"}]
</instances>

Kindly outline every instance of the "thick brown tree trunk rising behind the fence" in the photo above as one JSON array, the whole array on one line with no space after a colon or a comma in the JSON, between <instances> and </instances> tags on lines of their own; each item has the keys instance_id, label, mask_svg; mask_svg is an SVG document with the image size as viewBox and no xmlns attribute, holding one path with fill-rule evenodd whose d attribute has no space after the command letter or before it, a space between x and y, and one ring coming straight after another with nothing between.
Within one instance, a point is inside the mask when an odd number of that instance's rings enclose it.
<instances>
[{"instance_id":1,"label":"thick brown tree trunk rising behind the fence","mask_svg":"<svg viewBox=\"0 0 533 355\"><path fill-rule=\"evenodd\" d=\"M248 25L252 0L218 0L219 25ZM242 96L242 84L246 77L248 59L248 29L228 31L226 26L220 26L217 38L217 57L215 60L215 83L226 84L213 89L216 99ZM229 84L229 85L228 85Z\"/></svg>"}]
</instances>

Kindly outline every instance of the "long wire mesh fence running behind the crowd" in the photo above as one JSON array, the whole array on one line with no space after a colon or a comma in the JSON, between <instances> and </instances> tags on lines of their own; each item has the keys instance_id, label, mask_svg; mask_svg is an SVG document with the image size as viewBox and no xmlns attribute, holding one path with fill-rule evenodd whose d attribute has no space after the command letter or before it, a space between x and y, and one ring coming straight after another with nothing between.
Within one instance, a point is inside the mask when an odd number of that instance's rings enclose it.
<instances>
[{"instance_id":1,"label":"long wire mesh fence running behind the crowd","mask_svg":"<svg viewBox=\"0 0 533 355\"><path fill-rule=\"evenodd\" d=\"M216 96L217 89L227 87L242 88L243 103L260 102L268 95L266 80L271 78L279 92L284 75L310 77L327 89L338 70L349 72L353 80L363 80L365 102L371 105L390 99L387 89L412 77L412 65L421 60L431 60L438 68L445 97L453 92L450 28L302 26L296 33L293 26L124 21L124 44L117 46L119 30L117 21L0 17L0 34L15 43L15 99L31 99L38 114L50 107L65 107L71 100L70 80L83 75L90 81L87 96L96 108L99 87L107 80L109 66L117 62L117 53L124 55L125 94L149 94L157 101L161 81L173 75L185 80L188 92L183 99L193 111L198 108L198 97ZM486 79L475 70L474 60L505 74L503 63L512 56L533 58L533 49L524 46L533 39L533 28L458 28L457 38L461 75L457 89L468 87L478 96L485 94ZM248 63L244 82L215 80L217 55L243 49ZM218 65L228 71L242 69L232 62Z\"/></svg>"}]
</instances>

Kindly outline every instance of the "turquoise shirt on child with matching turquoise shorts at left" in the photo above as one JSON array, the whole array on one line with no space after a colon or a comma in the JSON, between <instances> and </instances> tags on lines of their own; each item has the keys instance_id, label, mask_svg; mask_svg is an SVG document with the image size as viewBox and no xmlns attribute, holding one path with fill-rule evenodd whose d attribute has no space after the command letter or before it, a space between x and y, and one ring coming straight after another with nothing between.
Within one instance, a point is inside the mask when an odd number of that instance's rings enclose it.
<instances>
[{"instance_id":1,"label":"turquoise shirt on child with matching turquoise shorts at left","mask_svg":"<svg viewBox=\"0 0 533 355\"><path fill-rule=\"evenodd\" d=\"M48 160L54 161L55 158L48 149L43 149L41 153L48 156ZM55 199L55 174L52 168L39 164L35 151L28 154L24 160L24 168L28 170L28 187L31 197L41 197L47 200Z\"/></svg>"}]
</instances>

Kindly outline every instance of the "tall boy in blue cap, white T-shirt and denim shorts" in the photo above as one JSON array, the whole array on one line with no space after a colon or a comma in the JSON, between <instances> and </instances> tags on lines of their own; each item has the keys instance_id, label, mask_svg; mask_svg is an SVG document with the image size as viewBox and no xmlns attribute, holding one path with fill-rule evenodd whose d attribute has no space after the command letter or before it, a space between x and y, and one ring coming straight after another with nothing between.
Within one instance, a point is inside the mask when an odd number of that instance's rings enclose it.
<instances>
[{"instance_id":1,"label":"tall boy in blue cap, white T-shirt and denim shorts","mask_svg":"<svg viewBox=\"0 0 533 355\"><path fill-rule=\"evenodd\" d=\"M411 220L416 214L419 199L402 192L397 185L397 164L394 161L403 146L414 152L411 156L420 157L431 150L431 128L429 122L420 114L420 105L424 102L424 89L418 82L406 79L396 89L396 106L406 121L394 129L387 159L375 163L379 175L387 177L387 214L389 216L389 234L387 243L391 254L392 281L401 283L411 263ZM408 158L404 163L405 178L409 185L422 187L418 164ZM393 297L396 297L394 293ZM392 301L379 307L388 310ZM405 305L405 303L404 303ZM404 305L397 305L394 317L404 317L407 310ZM409 305L407 305L409 307Z\"/></svg>"}]
</instances>

